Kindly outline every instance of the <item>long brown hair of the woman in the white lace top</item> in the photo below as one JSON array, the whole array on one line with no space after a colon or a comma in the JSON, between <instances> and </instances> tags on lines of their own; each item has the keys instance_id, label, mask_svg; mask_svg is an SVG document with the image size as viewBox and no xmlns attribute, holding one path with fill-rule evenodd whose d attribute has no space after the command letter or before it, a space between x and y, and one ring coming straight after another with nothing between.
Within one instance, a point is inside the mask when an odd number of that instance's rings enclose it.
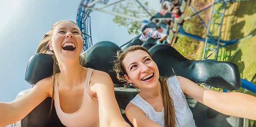
<instances>
[{"instance_id":1,"label":"long brown hair of the woman in the white lace top","mask_svg":"<svg viewBox=\"0 0 256 127\"><path fill-rule=\"evenodd\" d=\"M148 52L148 50L141 46L130 46L123 51L122 50L118 51L117 52L117 60L114 61L115 64L114 64L113 70L116 71L118 80L120 80L126 84L130 84L130 83L124 77L124 75L127 75L127 72L123 65L123 60L126 57L127 53L135 51L135 50L145 51L152 58L152 56ZM170 97L170 94L169 94L167 78L160 76L159 81L161 84L162 98L163 98L163 103L164 103L164 126L165 127L175 127L176 117L175 117L175 112L174 112L173 99ZM136 86L135 86L135 88L136 88Z\"/></svg>"}]
</instances>

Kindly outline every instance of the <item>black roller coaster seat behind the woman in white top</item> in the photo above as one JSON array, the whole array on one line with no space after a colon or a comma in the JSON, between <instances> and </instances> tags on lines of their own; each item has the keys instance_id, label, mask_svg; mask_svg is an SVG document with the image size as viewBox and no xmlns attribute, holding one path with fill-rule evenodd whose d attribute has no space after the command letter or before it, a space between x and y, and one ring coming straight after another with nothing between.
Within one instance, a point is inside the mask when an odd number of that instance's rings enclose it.
<instances>
[{"instance_id":1,"label":"black roller coaster seat behind the woman in white top","mask_svg":"<svg viewBox=\"0 0 256 127\"><path fill-rule=\"evenodd\" d=\"M157 44L150 48L149 52L162 76L172 76L175 72L176 75L186 77L195 83L214 86L216 88L238 90L241 86L238 66L232 62L188 60L172 46L167 44ZM186 98L196 126L242 126L243 120L241 118L227 116L190 97ZM217 100L215 101L218 103Z\"/></svg>"}]
</instances>

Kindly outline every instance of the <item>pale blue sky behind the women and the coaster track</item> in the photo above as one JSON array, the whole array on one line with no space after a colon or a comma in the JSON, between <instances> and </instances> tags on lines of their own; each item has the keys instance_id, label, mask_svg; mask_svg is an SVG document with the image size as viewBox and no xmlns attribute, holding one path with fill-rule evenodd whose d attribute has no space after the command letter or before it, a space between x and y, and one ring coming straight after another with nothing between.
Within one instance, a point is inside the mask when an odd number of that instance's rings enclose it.
<instances>
[{"instance_id":1,"label":"pale blue sky behind the women and the coaster track","mask_svg":"<svg viewBox=\"0 0 256 127\"><path fill-rule=\"evenodd\" d=\"M1 0L0 4L0 102L11 102L19 92L31 88L25 81L29 58L35 54L44 33L60 20L76 22L81 0ZM113 0L110 0L112 3ZM160 10L159 0L148 0ZM111 8L110 8L111 10ZM124 27L118 27L114 16L97 11L91 14L92 41L127 42Z\"/></svg>"}]
</instances>

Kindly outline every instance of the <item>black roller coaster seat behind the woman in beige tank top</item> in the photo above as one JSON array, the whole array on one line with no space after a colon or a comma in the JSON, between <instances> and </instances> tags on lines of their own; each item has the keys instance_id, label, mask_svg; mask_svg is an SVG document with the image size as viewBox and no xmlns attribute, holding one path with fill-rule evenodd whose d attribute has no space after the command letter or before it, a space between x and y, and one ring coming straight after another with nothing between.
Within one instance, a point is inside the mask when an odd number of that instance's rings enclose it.
<instances>
[{"instance_id":1,"label":"black roller coaster seat behind the woman in beige tank top","mask_svg":"<svg viewBox=\"0 0 256 127\"><path fill-rule=\"evenodd\" d=\"M87 60L85 67L107 72L114 83L120 84L116 78L116 73L110 71L118 50L121 48L113 42L101 41L94 44L82 53L82 56L85 56ZM32 85L36 84L39 80L52 76L52 70L52 56L37 53L30 58L27 64L25 80ZM22 126L64 126L57 117L54 105L48 118L50 108L51 98L47 98L22 119Z\"/></svg>"}]
</instances>

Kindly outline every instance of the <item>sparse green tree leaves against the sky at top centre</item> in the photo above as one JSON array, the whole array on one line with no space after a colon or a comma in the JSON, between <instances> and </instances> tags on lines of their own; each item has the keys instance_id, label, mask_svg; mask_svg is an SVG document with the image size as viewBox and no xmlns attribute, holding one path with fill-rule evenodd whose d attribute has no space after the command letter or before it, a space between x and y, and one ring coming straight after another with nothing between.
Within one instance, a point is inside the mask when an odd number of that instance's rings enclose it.
<instances>
[{"instance_id":1,"label":"sparse green tree leaves against the sky at top centre","mask_svg":"<svg viewBox=\"0 0 256 127\"><path fill-rule=\"evenodd\" d=\"M154 14L155 10L148 7L148 2L142 2L140 1L143 6L151 13ZM136 17L140 19L149 19L150 16L147 14L147 12L135 1L135 0L129 0L126 1L125 4L119 3L114 5L112 11L128 15L131 17ZM131 34L140 34L140 30L142 29L142 23L136 20L132 20L129 18L123 18L120 16L116 16L113 19L113 22L116 23L118 26L124 26L127 30L129 35Z\"/></svg>"}]
</instances>

